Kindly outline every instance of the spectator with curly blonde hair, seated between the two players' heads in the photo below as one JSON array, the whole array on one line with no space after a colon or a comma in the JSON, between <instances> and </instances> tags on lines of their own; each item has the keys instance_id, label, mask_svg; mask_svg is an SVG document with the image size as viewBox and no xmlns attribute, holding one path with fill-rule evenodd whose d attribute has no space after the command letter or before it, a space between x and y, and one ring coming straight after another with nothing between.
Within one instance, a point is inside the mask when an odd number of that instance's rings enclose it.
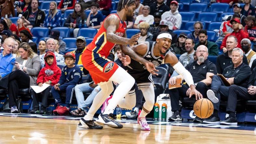
<instances>
[{"instance_id":1,"label":"spectator with curly blonde hair, seated between the two players' heads","mask_svg":"<svg viewBox=\"0 0 256 144\"><path fill-rule=\"evenodd\" d=\"M146 41L152 41L153 35L148 32L149 24L145 21L141 22L139 25L140 37L138 39L138 44Z\"/></svg>"}]
</instances>

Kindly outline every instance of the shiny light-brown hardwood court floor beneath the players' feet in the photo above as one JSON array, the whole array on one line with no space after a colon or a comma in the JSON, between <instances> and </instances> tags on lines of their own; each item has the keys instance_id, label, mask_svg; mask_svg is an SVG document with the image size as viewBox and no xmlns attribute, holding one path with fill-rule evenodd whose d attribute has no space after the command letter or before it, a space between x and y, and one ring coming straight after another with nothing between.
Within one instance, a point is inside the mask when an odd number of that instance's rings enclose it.
<instances>
[{"instance_id":1,"label":"shiny light-brown hardwood court floor beneath the players' feet","mask_svg":"<svg viewBox=\"0 0 256 144\"><path fill-rule=\"evenodd\" d=\"M150 125L141 131L138 124L122 123L122 129L102 130L77 127L78 120L0 116L2 144L156 144L156 143L255 143L253 130L194 126Z\"/></svg>"}]
</instances>

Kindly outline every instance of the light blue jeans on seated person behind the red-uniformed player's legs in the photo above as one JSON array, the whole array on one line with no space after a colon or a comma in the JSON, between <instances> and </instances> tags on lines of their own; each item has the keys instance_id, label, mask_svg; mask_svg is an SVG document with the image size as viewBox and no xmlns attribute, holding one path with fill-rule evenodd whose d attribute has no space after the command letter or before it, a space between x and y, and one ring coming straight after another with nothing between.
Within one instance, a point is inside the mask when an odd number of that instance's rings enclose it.
<instances>
[{"instance_id":1,"label":"light blue jeans on seated person behind the red-uniformed player's legs","mask_svg":"<svg viewBox=\"0 0 256 144\"><path fill-rule=\"evenodd\" d=\"M76 100L78 108L84 110L90 104L92 104L94 97L100 91L100 86L92 88L89 83L83 83L75 86ZM84 101L83 92L92 92L87 99Z\"/></svg>"}]
</instances>

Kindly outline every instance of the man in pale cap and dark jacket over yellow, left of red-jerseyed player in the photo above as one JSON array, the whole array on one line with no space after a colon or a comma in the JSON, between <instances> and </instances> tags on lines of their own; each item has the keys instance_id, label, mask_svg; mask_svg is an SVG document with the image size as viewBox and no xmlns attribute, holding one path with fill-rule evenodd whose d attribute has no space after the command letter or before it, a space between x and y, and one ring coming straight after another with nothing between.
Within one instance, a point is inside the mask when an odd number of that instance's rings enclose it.
<instances>
[{"instance_id":1,"label":"man in pale cap and dark jacket over yellow, left of red-jerseyed player","mask_svg":"<svg viewBox=\"0 0 256 144\"><path fill-rule=\"evenodd\" d=\"M79 36L76 38L76 47L77 49L72 51L71 53L75 54L75 65L83 65L82 63L82 54L86 48L86 41L83 36Z\"/></svg>"}]
</instances>

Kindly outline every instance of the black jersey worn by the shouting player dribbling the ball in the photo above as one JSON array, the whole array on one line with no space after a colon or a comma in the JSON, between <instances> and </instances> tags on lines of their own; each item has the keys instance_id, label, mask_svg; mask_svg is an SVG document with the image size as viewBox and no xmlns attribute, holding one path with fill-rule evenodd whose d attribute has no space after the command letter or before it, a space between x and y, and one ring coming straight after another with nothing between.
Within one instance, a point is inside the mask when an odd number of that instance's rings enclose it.
<instances>
[{"instance_id":1,"label":"black jersey worn by the shouting player dribbling the ball","mask_svg":"<svg viewBox=\"0 0 256 144\"><path fill-rule=\"evenodd\" d=\"M147 41L147 53L143 55L142 57L146 59L149 62L152 62L155 64L155 66L159 66L164 63L164 57L170 53L171 51L168 49L165 54L156 57L153 53L153 48L155 46L156 42L153 41ZM142 63L139 63L133 59L131 59L131 63L127 66L128 71L145 71L147 70L146 66Z\"/></svg>"}]
</instances>

